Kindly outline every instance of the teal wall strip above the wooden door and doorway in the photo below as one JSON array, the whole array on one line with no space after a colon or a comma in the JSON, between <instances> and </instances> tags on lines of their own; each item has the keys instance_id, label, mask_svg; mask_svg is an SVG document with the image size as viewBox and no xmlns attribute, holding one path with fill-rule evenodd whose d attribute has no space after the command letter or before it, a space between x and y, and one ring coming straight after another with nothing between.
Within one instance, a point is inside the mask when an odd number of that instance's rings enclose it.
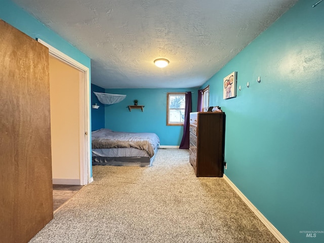
<instances>
[{"instance_id":1,"label":"teal wall strip above the wooden door and doorway","mask_svg":"<svg viewBox=\"0 0 324 243\"><path fill-rule=\"evenodd\" d=\"M47 28L44 24L36 20L13 2L9 0L0 0L0 19L6 21L33 39L41 38L57 50L88 67L91 72L91 59L89 57L77 50L62 37ZM90 87L89 90L91 90ZM62 97L62 99L64 99L64 97ZM89 163L91 163L91 161L89 161Z\"/></svg>"}]
</instances>

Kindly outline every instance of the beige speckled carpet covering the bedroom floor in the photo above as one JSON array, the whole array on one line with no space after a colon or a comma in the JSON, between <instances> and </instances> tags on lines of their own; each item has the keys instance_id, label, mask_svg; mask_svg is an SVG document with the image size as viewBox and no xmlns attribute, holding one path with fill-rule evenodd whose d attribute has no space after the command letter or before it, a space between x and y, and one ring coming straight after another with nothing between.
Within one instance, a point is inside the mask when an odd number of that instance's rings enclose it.
<instances>
[{"instance_id":1,"label":"beige speckled carpet covering the bedroom floor","mask_svg":"<svg viewBox=\"0 0 324 243\"><path fill-rule=\"evenodd\" d=\"M187 150L93 177L30 242L278 242L223 178L195 176Z\"/></svg>"}]
</instances>

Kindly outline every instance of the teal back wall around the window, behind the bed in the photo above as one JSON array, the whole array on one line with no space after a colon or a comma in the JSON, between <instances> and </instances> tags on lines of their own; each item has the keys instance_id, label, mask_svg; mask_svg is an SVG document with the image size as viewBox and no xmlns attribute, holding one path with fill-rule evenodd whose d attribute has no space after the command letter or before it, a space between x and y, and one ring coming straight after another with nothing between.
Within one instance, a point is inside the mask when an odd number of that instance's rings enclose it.
<instances>
[{"instance_id":1,"label":"teal back wall around the window, behind the bed","mask_svg":"<svg viewBox=\"0 0 324 243\"><path fill-rule=\"evenodd\" d=\"M106 89L106 93L127 95L116 104L105 105L105 128L122 132L156 133L160 145L180 145L183 126L167 126L167 92L186 92L192 94L192 110L197 109L197 89ZM138 100L140 109L132 109L133 100Z\"/></svg>"}]
</instances>

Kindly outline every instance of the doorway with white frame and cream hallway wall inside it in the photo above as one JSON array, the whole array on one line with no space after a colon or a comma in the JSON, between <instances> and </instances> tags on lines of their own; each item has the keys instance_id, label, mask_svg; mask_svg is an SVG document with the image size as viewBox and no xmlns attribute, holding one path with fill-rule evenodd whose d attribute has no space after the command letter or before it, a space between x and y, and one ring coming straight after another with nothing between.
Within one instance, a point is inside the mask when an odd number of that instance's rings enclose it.
<instances>
[{"instance_id":1,"label":"doorway with white frame and cream hallway wall inside it","mask_svg":"<svg viewBox=\"0 0 324 243\"><path fill-rule=\"evenodd\" d=\"M53 184L87 185L93 181L89 68L37 41L49 48L50 55Z\"/></svg>"}]
</instances>

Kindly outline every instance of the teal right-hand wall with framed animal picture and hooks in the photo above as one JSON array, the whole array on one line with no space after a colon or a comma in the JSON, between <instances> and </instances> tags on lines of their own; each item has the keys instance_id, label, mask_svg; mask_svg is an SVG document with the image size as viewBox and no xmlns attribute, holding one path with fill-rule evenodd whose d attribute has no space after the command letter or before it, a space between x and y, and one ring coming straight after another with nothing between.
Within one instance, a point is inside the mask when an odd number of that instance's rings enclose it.
<instances>
[{"instance_id":1,"label":"teal right-hand wall with framed animal picture and hooks","mask_svg":"<svg viewBox=\"0 0 324 243\"><path fill-rule=\"evenodd\" d=\"M226 113L226 176L290 242L324 242L300 233L324 230L324 3L315 2L299 1L203 86ZM241 91L223 100L233 71Z\"/></svg>"}]
</instances>

